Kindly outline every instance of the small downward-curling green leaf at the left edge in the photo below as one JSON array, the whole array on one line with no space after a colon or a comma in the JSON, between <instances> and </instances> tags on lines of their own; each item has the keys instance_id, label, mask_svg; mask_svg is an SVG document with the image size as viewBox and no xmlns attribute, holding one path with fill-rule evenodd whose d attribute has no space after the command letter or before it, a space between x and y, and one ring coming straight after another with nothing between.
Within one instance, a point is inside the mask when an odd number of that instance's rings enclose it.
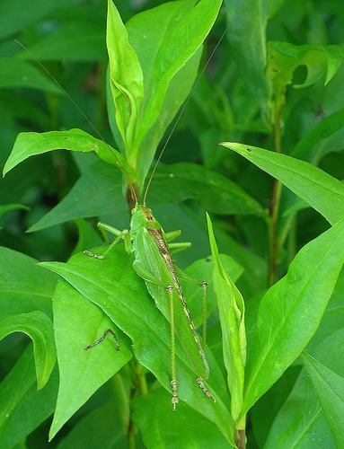
<instances>
[{"instance_id":1,"label":"small downward-curling green leaf at the left edge","mask_svg":"<svg viewBox=\"0 0 344 449\"><path fill-rule=\"evenodd\" d=\"M45 313L18 313L0 320L0 339L13 332L27 334L33 342L38 390L49 381L56 362L52 322Z\"/></svg>"}]
</instances>

